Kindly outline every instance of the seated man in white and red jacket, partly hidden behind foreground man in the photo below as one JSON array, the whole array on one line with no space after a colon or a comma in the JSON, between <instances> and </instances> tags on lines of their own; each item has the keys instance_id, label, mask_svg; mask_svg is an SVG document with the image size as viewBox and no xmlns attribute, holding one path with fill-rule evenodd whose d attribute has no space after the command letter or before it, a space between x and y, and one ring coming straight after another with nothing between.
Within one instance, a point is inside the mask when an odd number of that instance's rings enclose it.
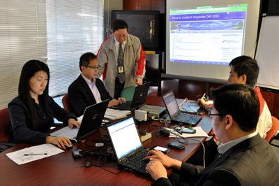
<instances>
[{"instance_id":1,"label":"seated man in white and red jacket, partly hidden behind foreground man","mask_svg":"<svg viewBox=\"0 0 279 186\"><path fill-rule=\"evenodd\" d=\"M257 98L259 99L259 121L257 122L256 131L259 133L259 136L265 138L266 132L272 127L272 120L269 107L267 106L266 101L264 101L261 90L256 86L257 77L259 76L259 66L257 65L257 61L252 59L252 57L242 55L232 59L229 66L231 68L228 78L229 83L249 85L256 92ZM199 99L199 102L201 105L205 105L204 99ZM206 165L209 165L218 153L217 146L220 145L220 141L218 141L216 136L213 136L213 138L206 141L204 145L206 148L205 163ZM197 150L197 152L190 157L187 162L202 165L202 155L203 150L202 148L199 148L199 150Z\"/></svg>"}]
</instances>

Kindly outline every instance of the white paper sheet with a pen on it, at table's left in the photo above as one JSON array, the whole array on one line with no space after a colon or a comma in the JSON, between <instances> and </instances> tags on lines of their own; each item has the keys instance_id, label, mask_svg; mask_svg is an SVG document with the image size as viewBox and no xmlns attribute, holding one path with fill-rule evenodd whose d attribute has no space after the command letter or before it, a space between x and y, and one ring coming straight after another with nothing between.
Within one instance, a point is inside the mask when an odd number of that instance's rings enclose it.
<instances>
[{"instance_id":1,"label":"white paper sheet with a pen on it, at table's left","mask_svg":"<svg viewBox=\"0 0 279 186\"><path fill-rule=\"evenodd\" d=\"M24 148L15 152L7 153L6 156L13 160L16 164L26 164L44 157L50 157L64 152L60 148L52 144L36 145L30 148Z\"/></svg>"}]
</instances>

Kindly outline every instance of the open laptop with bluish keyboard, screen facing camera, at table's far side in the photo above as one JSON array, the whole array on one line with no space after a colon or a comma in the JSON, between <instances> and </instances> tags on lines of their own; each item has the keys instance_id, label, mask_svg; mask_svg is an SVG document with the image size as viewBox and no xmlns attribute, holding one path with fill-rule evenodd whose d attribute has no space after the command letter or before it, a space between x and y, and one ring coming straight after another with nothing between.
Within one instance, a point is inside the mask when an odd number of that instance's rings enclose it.
<instances>
[{"instance_id":1,"label":"open laptop with bluish keyboard, screen facing camera, at table's far side","mask_svg":"<svg viewBox=\"0 0 279 186\"><path fill-rule=\"evenodd\" d=\"M175 124L187 124L190 126L195 126L200 120L202 120L202 116L200 115L182 113L172 90L163 94L163 101L167 108L167 112L169 113L171 122Z\"/></svg>"}]
</instances>

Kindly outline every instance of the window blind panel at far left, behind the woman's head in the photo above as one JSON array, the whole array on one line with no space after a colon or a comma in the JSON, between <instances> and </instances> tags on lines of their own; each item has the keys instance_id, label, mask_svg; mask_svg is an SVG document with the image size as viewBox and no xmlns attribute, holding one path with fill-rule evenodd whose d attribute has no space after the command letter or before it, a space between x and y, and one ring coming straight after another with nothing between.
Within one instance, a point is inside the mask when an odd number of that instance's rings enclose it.
<instances>
[{"instance_id":1,"label":"window blind panel at far left, behind the woman's head","mask_svg":"<svg viewBox=\"0 0 279 186\"><path fill-rule=\"evenodd\" d=\"M0 108L17 96L23 64L46 58L45 1L0 1Z\"/></svg>"}]
</instances>

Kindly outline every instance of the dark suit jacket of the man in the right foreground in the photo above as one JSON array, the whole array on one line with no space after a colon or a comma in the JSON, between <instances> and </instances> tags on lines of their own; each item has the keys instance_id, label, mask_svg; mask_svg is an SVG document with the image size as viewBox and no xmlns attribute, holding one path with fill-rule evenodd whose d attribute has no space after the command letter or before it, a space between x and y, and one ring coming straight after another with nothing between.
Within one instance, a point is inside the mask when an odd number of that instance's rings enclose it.
<instances>
[{"instance_id":1,"label":"dark suit jacket of the man in the right foreground","mask_svg":"<svg viewBox=\"0 0 279 186\"><path fill-rule=\"evenodd\" d=\"M259 134L230 148L206 169L183 163L179 173L179 183L185 185L278 185L278 178L278 159ZM154 185L171 183L160 178Z\"/></svg>"}]
</instances>

